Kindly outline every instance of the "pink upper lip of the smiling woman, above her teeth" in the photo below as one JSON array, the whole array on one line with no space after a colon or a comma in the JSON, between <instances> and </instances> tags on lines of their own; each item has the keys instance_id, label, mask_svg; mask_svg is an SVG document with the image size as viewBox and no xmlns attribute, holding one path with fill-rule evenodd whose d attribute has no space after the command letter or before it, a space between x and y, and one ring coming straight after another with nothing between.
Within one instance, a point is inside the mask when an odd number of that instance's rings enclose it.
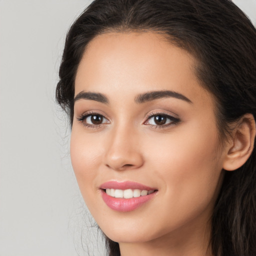
<instances>
[{"instance_id":1,"label":"pink upper lip of the smiling woman, above her teeth","mask_svg":"<svg viewBox=\"0 0 256 256\"><path fill-rule=\"evenodd\" d=\"M125 189L156 190L153 187L149 187L138 182L116 181L116 180L106 181L102 183L99 188L100 189L114 188L114 189L122 189L122 190L125 190Z\"/></svg>"}]
</instances>

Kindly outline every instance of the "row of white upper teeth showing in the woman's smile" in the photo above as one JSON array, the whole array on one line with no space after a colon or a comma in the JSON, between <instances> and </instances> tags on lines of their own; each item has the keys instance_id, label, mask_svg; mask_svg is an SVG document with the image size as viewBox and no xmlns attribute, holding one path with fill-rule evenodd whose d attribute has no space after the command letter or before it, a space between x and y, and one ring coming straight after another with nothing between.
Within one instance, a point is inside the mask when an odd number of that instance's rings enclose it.
<instances>
[{"instance_id":1,"label":"row of white upper teeth showing in the woman's smile","mask_svg":"<svg viewBox=\"0 0 256 256\"><path fill-rule=\"evenodd\" d=\"M106 194L116 197L116 198L132 198L132 197L139 197L144 196L147 194L153 193L154 190L140 190L140 189L114 189L114 188L106 188Z\"/></svg>"}]
</instances>

